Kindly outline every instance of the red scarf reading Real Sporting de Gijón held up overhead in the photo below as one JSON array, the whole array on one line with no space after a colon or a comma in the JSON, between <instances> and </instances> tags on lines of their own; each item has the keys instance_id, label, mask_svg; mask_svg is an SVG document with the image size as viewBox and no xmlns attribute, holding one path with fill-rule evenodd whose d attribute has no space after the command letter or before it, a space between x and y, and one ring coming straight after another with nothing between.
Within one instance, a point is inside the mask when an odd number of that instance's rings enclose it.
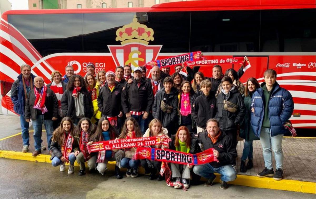
<instances>
[{"instance_id":1,"label":"red scarf reading Real Sporting de Gij\u00f3n held up overhead","mask_svg":"<svg viewBox=\"0 0 316 199\"><path fill-rule=\"evenodd\" d=\"M249 61L245 61L246 57L221 57L215 59L190 60L183 63L182 66L210 66L217 64L243 64L244 72L251 67Z\"/></svg>"}]
</instances>

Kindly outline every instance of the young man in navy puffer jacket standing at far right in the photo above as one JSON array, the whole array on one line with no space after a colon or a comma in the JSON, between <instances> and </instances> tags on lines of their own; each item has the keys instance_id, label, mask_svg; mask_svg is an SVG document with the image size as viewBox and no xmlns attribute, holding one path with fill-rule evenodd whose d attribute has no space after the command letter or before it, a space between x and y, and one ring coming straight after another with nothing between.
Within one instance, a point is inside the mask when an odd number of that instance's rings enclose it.
<instances>
[{"instance_id":1,"label":"young man in navy puffer jacket standing at far right","mask_svg":"<svg viewBox=\"0 0 316 199\"><path fill-rule=\"evenodd\" d=\"M257 137L260 137L263 148L265 169L258 173L260 178L273 176L281 180L283 176L283 134L287 131L285 124L291 117L294 102L291 93L276 83L276 71L264 72L264 83L252 95L251 126ZM272 151L276 161L276 172L273 172Z\"/></svg>"}]
</instances>

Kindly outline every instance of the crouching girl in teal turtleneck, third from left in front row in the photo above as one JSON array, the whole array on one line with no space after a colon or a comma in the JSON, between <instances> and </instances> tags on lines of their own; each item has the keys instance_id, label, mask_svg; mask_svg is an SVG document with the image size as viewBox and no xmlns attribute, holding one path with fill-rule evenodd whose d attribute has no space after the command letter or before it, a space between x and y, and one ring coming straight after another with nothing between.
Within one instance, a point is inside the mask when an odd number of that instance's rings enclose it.
<instances>
[{"instance_id":1,"label":"crouching girl in teal turtleneck, third from left in front row","mask_svg":"<svg viewBox=\"0 0 316 199\"><path fill-rule=\"evenodd\" d=\"M91 145L93 142L114 140L115 137L115 130L110 124L109 120L105 117L101 117L98 122L97 130L95 131L94 135L90 137L90 142L88 142L88 145ZM98 163L97 170L103 175L107 169L107 162L115 160L115 175L117 179L121 179L123 176L120 173L120 162L123 157L124 152L120 149L99 151L96 160Z\"/></svg>"}]
</instances>

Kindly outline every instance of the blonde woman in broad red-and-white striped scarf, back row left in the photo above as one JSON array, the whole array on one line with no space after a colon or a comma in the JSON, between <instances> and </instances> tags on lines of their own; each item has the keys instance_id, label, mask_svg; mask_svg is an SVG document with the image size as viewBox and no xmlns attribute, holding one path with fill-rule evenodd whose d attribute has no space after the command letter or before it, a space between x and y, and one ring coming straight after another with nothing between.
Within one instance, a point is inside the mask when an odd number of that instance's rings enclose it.
<instances>
[{"instance_id":1,"label":"blonde woman in broad red-and-white striped scarf, back row left","mask_svg":"<svg viewBox=\"0 0 316 199\"><path fill-rule=\"evenodd\" d=\"M64 91L67 89L67 83L61 81L62 74L58 70L52 72L51 80L52 82L47 84L47 88L50 88L56 94L58 100L58 119L53 122L53 128L57 129L63 118L60 100L63 97Z\"/></svg>"}]
</instances>

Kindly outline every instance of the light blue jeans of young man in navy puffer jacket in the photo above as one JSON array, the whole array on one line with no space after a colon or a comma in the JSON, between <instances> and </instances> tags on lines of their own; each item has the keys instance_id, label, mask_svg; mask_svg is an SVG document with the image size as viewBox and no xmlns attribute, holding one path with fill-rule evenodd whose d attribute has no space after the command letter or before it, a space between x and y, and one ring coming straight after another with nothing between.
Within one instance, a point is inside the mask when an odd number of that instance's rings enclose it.
<instances>
[{"instance_id":1,"label":"light blue jeans of young man in navy puffer jacket","mask_svg":"<svg viewBox=\"0 0 316 199\"><path fill-rule=\"evenodd\" d=\"M260 141L263 149L263 158L265 167L272 169L272 151L276 160L276 169L283 167L283 151L282 151L283 134L271 136L270 128L261 128ZM272 151L271 151L272 148Z\"/></svg>"}]
</instances>

